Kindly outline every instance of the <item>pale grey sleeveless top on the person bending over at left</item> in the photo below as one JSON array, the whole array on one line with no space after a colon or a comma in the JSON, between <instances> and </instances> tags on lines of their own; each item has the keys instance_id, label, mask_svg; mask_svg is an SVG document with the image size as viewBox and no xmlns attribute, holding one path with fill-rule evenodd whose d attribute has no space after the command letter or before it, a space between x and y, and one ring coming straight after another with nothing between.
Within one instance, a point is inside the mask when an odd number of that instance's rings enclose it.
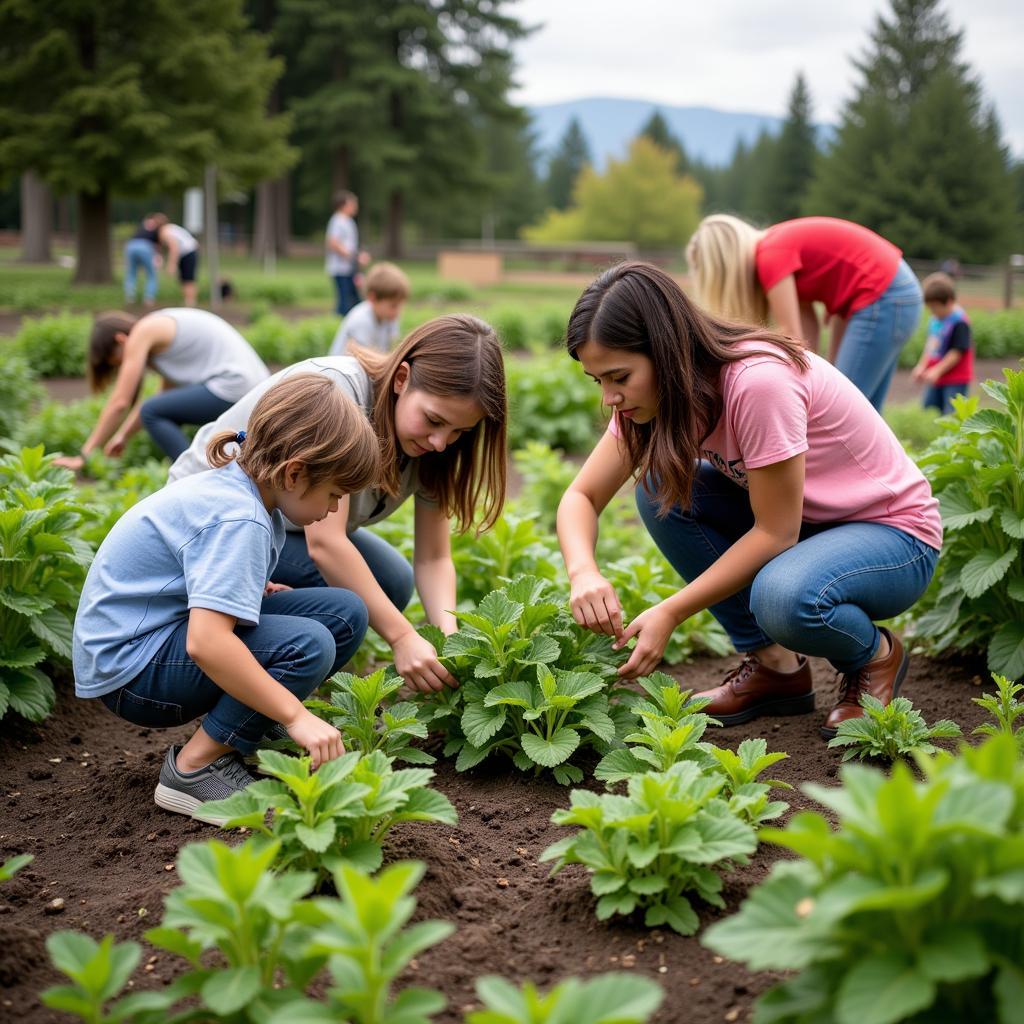
<instances>
[{"instance_id":1,"label":"pale grey sleeveless top on the person bending over at left","mask_svg":"<svg viewBox=\"0 0 1024 1024\"><path fill-rule=\"evenodd\" d=\"M270 376L252 345L226 321L205 309L161 309L177 325L171 344L150 366L172 384L205 384L218 398L238 401Z\"/></svg>"}]
</instances>

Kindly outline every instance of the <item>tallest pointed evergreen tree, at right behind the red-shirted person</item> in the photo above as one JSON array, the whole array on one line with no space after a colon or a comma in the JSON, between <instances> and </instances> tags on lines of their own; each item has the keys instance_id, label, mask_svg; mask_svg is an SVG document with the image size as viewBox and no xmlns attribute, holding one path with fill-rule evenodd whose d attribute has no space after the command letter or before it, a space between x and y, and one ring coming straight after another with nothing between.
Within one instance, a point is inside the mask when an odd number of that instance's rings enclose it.
<instances>
[{"instance_id":1,"label":"tallest pointed evergreen tree, at right behind the red-shirted person","mask_svg":"<svg viewBox=\"0 0 1024 1024\"><path fill-rule=\"evenodd\" d=\"M865 224L911 256L1006 255L1008 158L962 47L939 0L892 0L856 61L862 81L818 161L805 212Z\"/></svg>"}]
</instances>

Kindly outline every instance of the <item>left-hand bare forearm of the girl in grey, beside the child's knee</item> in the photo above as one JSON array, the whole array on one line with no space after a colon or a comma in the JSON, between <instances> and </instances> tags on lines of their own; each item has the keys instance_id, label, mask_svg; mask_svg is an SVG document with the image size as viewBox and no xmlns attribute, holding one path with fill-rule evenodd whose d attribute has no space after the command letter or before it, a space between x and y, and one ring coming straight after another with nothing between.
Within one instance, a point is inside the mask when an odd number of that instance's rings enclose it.
<instances>
[{"instance_id":1,"label":"left-hand bare forearm of the girl in grey, beside the child's knee","mask_svg":"<svg viewBox=\"0 0 1024 1024\"><path fill-rule=\"evenodd\" d=\"M456 680L437 660L429 641L413 629L412 623L391 603L370 571L366 559L348 539L348 496L338 510L321 522L306 526L306 545L321 575L332 587L343 587L362 598L370 614L370 625L387 641L394 652L398 674L414 689L437 690L456 685Z\"/></svg>"}]
</instances>

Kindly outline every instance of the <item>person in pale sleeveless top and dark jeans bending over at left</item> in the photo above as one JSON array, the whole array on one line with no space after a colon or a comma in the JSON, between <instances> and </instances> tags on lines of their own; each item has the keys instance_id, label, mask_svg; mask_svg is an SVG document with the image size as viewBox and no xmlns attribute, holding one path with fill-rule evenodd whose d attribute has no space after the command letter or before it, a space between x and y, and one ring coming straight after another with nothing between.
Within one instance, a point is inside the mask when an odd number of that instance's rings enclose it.
<instances>
[{"instance_id":1,"label":"person in pale sleeveless top and dark jeans bending over at left","mask_svg":"<svg viewBox=\"0 0 1024 1024\"><path fill-rule=\"evenodd\" d=\"M208 423L270 376L249 342L204 309L161 309L141 319L103 313L92 327L88 370L93 392L112 379L114 390L81 454L56 460L75 470L100 446L109 456L121 455L140 424L176 459L188 447L182 424ZM139 402L146 370L160 374L164 390Z\"/></svg>"}]
</instances>

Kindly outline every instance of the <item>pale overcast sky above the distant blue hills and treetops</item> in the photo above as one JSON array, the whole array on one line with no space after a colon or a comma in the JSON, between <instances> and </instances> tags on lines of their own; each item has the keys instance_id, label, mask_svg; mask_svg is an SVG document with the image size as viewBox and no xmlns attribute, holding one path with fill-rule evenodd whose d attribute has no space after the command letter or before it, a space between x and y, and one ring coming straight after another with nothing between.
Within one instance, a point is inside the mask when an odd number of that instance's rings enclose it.
<instances>
[{"instance_id":1,"label":"pale overcast sky above the distant blue hills and treetops","mask_svg":"<svg viewBox=\"0 0 1024 1024\"><path fill-rule=\"evenodd\" d=\"M946 0L965 55L1024 157L1024 0ZM782 115L807 77L818 121L851 95L879 0L520 0L540 28L517 46L516 98L547 103L624 96Z\"/></svg>"}]
</instances>

